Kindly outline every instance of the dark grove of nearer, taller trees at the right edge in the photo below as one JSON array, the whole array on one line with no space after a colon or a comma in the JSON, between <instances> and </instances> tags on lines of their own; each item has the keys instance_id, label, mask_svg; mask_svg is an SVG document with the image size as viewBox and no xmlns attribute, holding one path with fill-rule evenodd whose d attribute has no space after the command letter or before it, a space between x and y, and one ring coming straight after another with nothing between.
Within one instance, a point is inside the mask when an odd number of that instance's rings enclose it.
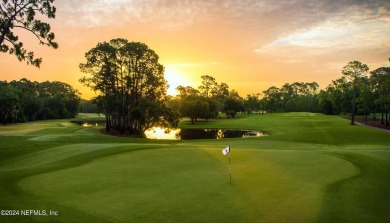
<instances>
[{"instance_id":1,"label":"dark grove of nearer, taller trees at the right edge","mask_svg":"<svg viewBox=\"0 0 390 223\"><path fill-rule=\"evenodd\" d=\"M368 116L381 115L381 124L389 126L390 109L390 67L380 67L369 71L369 67L359 61L351 61L342 69L343 76L318 94L321 112L324 114L351 114L354 124L355 114Z\"/></svg>"}]
</instances>

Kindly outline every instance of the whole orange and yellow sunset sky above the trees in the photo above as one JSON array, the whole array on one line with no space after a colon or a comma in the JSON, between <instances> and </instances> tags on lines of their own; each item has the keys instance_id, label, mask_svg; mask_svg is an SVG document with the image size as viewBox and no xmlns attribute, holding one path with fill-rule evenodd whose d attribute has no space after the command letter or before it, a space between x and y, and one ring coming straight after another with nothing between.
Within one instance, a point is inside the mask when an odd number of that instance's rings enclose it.
<instances>
[{"instance_id":1,"label":"whole orange and yellow sunset sky above the trees","mask_svg":"<svg viewBox=\"0 0 390 223\"><path fill-rule=\"evenodd\" d=\"M325 88L349 61L389 66L390 0L66 0L46 20L57 50L20 34L41 68L0 54L0 79L66 82L91 98L79 64L98 42L144 42L160 56L174 94L202 75L241 96L296 81Z\"/></svg>"}]
</instances>

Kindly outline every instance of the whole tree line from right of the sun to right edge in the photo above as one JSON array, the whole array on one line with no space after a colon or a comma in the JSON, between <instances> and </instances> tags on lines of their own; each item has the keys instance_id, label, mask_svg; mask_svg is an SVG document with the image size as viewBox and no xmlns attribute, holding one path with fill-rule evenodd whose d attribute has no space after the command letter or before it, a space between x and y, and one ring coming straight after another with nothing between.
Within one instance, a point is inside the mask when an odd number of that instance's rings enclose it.
<instances>
[{"instance_id":1,"label":"whole tree line from right of the sun to right edge","mask_svg":"<svg viewBox=\"0 0 390 223\"><path fill-rule=\"evenodd\" d=\"M192 123L198 119L216 119L221 113L233 118L237 112L319 112L350 114L351 124L355 123L356 114L364 115L367 122L370 114L376 119L380 113L381 124L389 126L390 67L369 71L366 64L351 61L341 73L341 78L322 90L316 82L294 82L280 88L271 86L245 98L229 91L226 83L218 84L215 78L204 75L197 89L179 86L179 94L167 103Z\"/></svg>"}]
</instances>

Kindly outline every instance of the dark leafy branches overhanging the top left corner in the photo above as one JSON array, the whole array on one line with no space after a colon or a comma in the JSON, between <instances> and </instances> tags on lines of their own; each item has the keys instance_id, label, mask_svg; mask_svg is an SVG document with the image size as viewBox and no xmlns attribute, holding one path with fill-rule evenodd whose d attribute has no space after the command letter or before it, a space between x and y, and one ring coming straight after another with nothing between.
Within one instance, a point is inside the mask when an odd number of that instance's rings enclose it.
<instances>
[{"instance_id":1,"label":"dark leafy branches overhanging the top left corner","mask_svg":"<svg viewBox=\"0 0 390 223\"><path fill-rule=\"evenodd\" d=\"M39 41L39 44L58 48L54 42L54 33L50 24L37 19L36 13L47 18L55 18L56 8L54 0L2 0L0 2L0 51L14 54L19 61L27 61L27 64L39 67L42 58L35 58L34 52L28 52L23 47L23 42L14 32L14 29L22 29L30 32Z\"/></svg>"}]
</instances>

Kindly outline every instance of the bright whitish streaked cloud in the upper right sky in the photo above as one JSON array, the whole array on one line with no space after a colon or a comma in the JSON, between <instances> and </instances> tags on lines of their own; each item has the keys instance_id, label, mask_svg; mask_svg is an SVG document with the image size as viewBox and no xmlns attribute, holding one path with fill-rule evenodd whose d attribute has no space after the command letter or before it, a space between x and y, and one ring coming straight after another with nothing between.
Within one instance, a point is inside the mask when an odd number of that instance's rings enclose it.
<instances>
[{"instance_id":1,"label":"bright whitish streaked cloud in the upper right sky","mask_svg":"<svg viewBox=\"0 0 390 223\"><path fill-rule=\"evenodd\" d=\"M342 13L334 13L322 22L286 33L254 51L288 63L302 60L300 58L337 55L340 51L388 50L389 36L390 9L387 5L377 8L351 5Z\"/></svg>"}]
</instances>

